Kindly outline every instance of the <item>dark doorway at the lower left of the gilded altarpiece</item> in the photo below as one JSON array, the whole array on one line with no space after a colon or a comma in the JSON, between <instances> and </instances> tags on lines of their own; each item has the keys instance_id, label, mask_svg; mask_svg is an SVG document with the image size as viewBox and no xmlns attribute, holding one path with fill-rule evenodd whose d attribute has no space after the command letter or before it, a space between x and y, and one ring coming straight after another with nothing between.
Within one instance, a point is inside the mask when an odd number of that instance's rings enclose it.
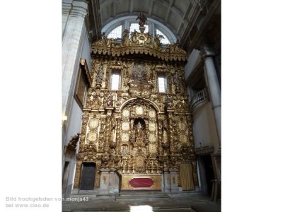
<instances>
[{"instance_id":1,"label":"dark doorway at the lower left of the gilded altarpiece","mask_svg":"<svg viewBox=\"0 0 283 212\"><path fill-rule=\"evenodd\" d=\"M96 164L83 163L83 170L81 173L81 190L92 190L94 186L94 179L96 179Z\"/></svg>"}]
</instances>

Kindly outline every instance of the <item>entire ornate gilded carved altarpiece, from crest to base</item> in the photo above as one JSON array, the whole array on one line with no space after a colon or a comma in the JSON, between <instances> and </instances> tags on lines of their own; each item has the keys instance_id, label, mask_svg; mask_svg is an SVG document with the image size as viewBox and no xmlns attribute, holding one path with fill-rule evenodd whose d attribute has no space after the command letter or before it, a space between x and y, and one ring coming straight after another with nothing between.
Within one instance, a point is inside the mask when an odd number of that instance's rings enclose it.
<instances>
[{"instance_id":1,"label":"entire ornate gilded carved altarpiece, from crest to base","mask_svg":"<svg viewBox=\"0 0 283 212\"><path fill-rule=\"evenodd\" d=\"M181 187L181 163L192 165L197 186L192 117L184 85L186 59L178 44L162 48L158 37L154 40L149 33L129 36L125 30L120 43L104 35L93 43L92 83L83 108L74 188L79 189L81 167L88 162L96 163L95 187L102 182L101 168L119 173L120 189L131 189L129 181L135 177L156 181L147 189L161 189L161 175L170 170L176 170L176 179L172 175L171 180ZM110 89L112 73L120 75L118 90ZM166 78L166 93L158 92L161 75Z\"/></svg>"}]
</instances>

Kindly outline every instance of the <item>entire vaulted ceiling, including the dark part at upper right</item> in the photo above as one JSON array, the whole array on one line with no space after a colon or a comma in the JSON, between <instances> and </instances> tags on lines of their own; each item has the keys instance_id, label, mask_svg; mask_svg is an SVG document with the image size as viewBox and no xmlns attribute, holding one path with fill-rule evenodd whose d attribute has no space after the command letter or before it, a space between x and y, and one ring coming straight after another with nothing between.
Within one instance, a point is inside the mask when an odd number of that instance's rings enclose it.
<instances>
[{"instance_id":1,"label":"entire vaulted ceiling, including the dark part at upper right","mask_svg":"<svg viewBox=\"0 0 283 212\"><path fill-rule=\"evenodd\" d=\"M90 0L89 4L92 40L110 21L139 12L166 25L185 49L195 46L190 44L200 36L214 36L215 31L220 35L221 0Z\"/></svg>"}]
</instances>

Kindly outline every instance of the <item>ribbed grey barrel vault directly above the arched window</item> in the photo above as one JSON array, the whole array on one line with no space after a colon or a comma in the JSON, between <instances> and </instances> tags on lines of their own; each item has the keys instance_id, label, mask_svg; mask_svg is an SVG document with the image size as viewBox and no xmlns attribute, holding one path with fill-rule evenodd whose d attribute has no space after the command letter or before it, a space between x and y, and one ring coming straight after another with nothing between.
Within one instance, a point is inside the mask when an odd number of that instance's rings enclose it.
<instances>
[{"instance_id":1,"label":"ribbed grey barrel vault directly above the arched window","mask_svg":"<svg viewBox=\"0 0 283 212\"><path fill-rule=\"evenodd\" d=\"M195 0L100 0L101 25L122 16L134 16L139 12L158 20L180 37L188 24Z\"/></svg>"}]
</instances>

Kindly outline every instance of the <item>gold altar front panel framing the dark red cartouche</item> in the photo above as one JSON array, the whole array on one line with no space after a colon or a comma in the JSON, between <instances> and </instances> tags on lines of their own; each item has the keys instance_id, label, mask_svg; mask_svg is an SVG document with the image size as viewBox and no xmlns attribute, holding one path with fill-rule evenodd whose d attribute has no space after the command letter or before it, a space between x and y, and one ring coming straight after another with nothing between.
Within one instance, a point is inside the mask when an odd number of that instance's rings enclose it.
<instances>
[{"instance_id":1,"label":"gold altar front panel framing the dark red cartouche","mask_svg":"<svg viewBox=\"0 0 283 212\"><path fill-rule=\"evenodd\" d=\"M149 178L154 183L151 187L132 187L129 182L135 178ZM161 190L161 175L122 175L121 190Z\"/></svg>"}]
</instances>

